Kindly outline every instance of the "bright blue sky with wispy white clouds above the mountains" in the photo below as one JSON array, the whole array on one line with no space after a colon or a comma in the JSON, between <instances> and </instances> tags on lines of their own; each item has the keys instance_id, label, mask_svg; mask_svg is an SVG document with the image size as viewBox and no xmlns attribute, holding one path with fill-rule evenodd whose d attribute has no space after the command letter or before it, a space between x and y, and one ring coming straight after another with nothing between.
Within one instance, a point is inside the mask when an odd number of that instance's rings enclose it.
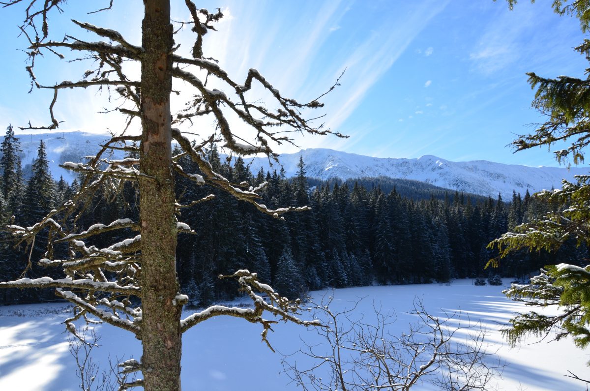
<instances>
[{"instance_id":1,"label":"bright blue sky with wispy white clouds above the mountains","mask_svg":"<svg viewBox=\"0 0 590 391\"><path fill-rule=\"evenodd\" d=\"M68 22L73 17L119 30L139 44L142 2L116 0L116 9L98 15L86 15L74 3L65 6L66 15L50 20L55 40L64 32L83 36ZM528 108L533 91L525 72L584 77L588 66L572 50L584 38L577 20L554 14L549 3L522 0L513 11L506 2L491 0L230 0L198 6L224 10L219 32L206 37L206 55L217 58L234 79L253 67L284 95L310 100L346 69L321 113L326 126L350 138L297 136L301 148L537 166L556 165L547 148L513 154L507 147L515 134L532 131L543 119ZM8 75L0 86L0 116L6 125L29 119L47 123L51 95L27 94L25 56L18 51L26 41L17 38L16 28L20 12L0 10L5 37L0 72ZM186 20L187 15L184 2L174 0L173 17ZM189 38L179 36L181 50L190 48ZM89 67L54 58L37 66L45 84L77 80ZM97 113L102 107L109 102L94 91L65 93L56 110L66 121L60 129L116 131L120 120Z\"/></svg>"}]
</instances>

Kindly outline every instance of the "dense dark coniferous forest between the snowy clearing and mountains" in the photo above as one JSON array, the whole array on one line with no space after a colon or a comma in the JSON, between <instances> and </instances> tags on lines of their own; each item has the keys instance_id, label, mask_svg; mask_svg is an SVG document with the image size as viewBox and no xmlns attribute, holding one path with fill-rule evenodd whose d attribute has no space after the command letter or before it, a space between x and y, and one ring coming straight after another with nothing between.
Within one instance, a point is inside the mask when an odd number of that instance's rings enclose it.
<instances>
[{"instance_id":1,"label":"dense dark coniferous forest between the snowy clearing and mountains","mask_svg":"<svg viewBox=\"0 0 590 391\"><path fill-rule=\"evenodd\" d=\"M10 126L0 152L3 226L32 226L78 191L77 180L71 184L63 178L53 180L43 142L28 178L22 173L19 141ZM215 145L209 148L207 158L215 172L245 190L267 182L259 193L268 208L310 206L312 210L273 219L224 191L209 185L195 187L190 178L177 175L176 193L183 204L215 196L181 210L182 220L194 230L179 236L176 253L181 287L191 305L235 296L235 286L217 276L237 269L257 272L261 281L293 298L326 287L447 283L453 278L497 281L495 275L524 279L544 265L576 264L588 258L584 243L576 247L572 242L557 253L523 250L503 260L497 269L484 269L497 255L487 248L491 240L557 208L529 193L514 193L512 200L502 200L500 196L443 193L403 182L397 182L402 185L398 191L395 182L386 178L326 183L307 178L302 159L296 177L287 178L280 166L273 172L251 172L244 159L221 157ZM180 157L178 164L184 172L199 172L189 158ZM120 189L104 189L78 213L76 225L87 229L93 221L137 221L138 199L137 188L130 183ZM91 244L102 248L116 240L116 235L100 234ZM0 280L45 275L60 278L60 271L37 264L44 258L47 240L47 235L38 235L27 245L2 232ZM55 245L54 254L60 252L65 256L67 246ZM53 289L0 291L1 304L53 299Z\"/></svg>"}]
</instances>

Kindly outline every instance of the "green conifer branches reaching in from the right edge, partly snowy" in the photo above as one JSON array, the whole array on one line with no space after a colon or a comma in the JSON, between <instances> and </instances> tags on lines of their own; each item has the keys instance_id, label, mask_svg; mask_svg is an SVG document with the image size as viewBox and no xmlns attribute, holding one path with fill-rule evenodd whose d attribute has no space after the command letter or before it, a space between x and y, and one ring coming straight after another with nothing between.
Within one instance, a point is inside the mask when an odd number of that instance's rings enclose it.
<instances>
[{"instance_id":1,"label":"green conifer branches reaching in from the right edge, partly snowy","mask_svg":"<svg viewBox=\"0 0 590 391\"><path fill-rule=\"evenodd\" d=\"M508 0L510 7L516 1ZM583 32L590 28L590 12L587 1L565 3L555 1L552 4L558 14L574 15L578 18ZM590 58L590 40L584 40L575 48L576 51ZM590 78L558 76L550 79L527 73L529 83L536 89L532 106L539 110L547 119L535 132L520 135L513 146L517 151L540 145L553 145L558 141L571 141L565 148L555 151L559 162L578 164L584 161L585 148L589 144L588 112L590 102ZM499 239L490 243L499 250L499 258L490 261L491 265L498 265L499 259L506 257L520 249L540 252L556 251L563 246L570 237L580 245L590 243L588 227L590 224L590 177L578 178L577 183L563 181L560 191L543 191L530 198L530 203L550 203L559 206L558 210L550 211L546 216L529 216L525 224L514 229L514 232L503 234ZM528 196L528 194L527 194ZM529 204L525 196L525 205ZM532 208L528 208L528 211ZM527 214L525 213L525 216ZM582 263L579 261L575 263ZM535 311L517 315L510 320L512 327L504 330L510 343L516 344L526 335L550 335L556 330L555 338L559 339L571 335L579 347L586 347L590 343L590 299L587 294L590 289L590 265L581 268L578 265L560 263L548 265L545 271L532 279L531 284L512 285L506 295L518 301L525 301L529 305L547 307L558 306L559 315L540 315Z\"/></svg>"}]
</instances>

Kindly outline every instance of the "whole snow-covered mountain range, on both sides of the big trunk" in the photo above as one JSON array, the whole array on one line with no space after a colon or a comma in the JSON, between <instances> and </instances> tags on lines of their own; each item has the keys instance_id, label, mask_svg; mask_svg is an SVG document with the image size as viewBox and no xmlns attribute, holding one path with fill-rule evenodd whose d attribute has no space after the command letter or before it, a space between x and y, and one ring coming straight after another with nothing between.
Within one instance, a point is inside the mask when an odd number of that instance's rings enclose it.
<instances>
[{"instance_id":1,"label":"whole snow-covered mountain range, on both sides of the big trunk","mask_svg":"<svg viewBox=\"0 0 590 391\"><path fill-rule=\"evenodd\" d=\"M63 175L68 182L71 182L75 175L58 167L59 164L65 161L77 162L84 156L96 154L98 146L108 139L107 135L84 132L50 132L18 137L23 150L21 156L25 175L27 164L31 164L37 157L37 148L42 139L46 145L51 174L55 178ZM115 156L120 158L122 152L116 151ZM373 158L332 149L309 148L295 154L281 155L280 164L283 165L287 177L296 175L300 156L303 157L309 177L346 180L382 175L422 181L494 198L500 193L505 200L512 198L513 190L524 195L526 190L535 193L552 187L559 188L562 178L573 180L573 175L588 174L588 168L573 167L568 171L560 167L535 168L484 160L453 162L431 155L417 159ZM254 173L260 168L264 171L280 169L277 164L271 167L267 158L246 158L245 161L251 164Z\"/></svg>"}]
</instances>

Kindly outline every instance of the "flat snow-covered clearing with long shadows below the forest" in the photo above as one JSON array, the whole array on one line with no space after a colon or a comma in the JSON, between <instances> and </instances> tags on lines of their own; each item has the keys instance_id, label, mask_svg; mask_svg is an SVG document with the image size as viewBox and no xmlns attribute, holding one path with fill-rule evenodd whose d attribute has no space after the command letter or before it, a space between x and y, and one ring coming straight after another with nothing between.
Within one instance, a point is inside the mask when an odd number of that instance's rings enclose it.
<instances>
[{"instance_id":1,"label":"flat snow-covered clearing with long shadows below the forest","mask_svg":"<svg viewBox=\"0 0 590 391\"><path fill-rule=\"evenodd\" d=\"M505 280L507 282L507 280ZM451 285L370 286L337 289L331 308L340 311L364 298L356 311L373 314L373 304L383 311L395 310L395 330L401 334L415 321L404 314L416 297L433 315L461 310L472 321L481 321L490 330L486 341L498 349L506 361L500 390L584 390L581 382L563 376L567 370L589 377L588 354L569 340L509 348L498 331L510 314L523 309L500 293L500 286L474 286L470 279ZM312 292L319 300L326 292ZM332 292L328 292L332 295ZM68 352L67 335L61 322L68 316L64 304L0 307L0 390L79 390L74 359ZM99 325L100 348L93 359L107 368L109 356L140 357L140 344L128 332ZM270 341L277 352L289 354L301 340L314 341L314 333L291 324L278 324ZM189 330L183 338L182 387L185 390L295 390L289 384L280 353L272 353L260 343L260 325L236 318L212 318ZM394 331L395 332L395 331ZM423 385L422 390L432 386Z\"/></svg>"}]
</instances>

